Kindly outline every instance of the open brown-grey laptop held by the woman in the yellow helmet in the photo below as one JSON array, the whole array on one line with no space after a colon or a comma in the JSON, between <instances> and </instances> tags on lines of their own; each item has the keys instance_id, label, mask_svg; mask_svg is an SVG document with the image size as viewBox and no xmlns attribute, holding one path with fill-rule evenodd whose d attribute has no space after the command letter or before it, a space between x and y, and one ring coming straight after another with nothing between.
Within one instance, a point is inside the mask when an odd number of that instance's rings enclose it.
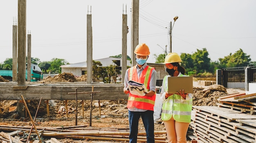
<instances>
[{"instance_id":1,"label":"open brown-grey laptop held by the woman in the yellow helmet","mask_svg":"<svg viewBox=\"0 0 256 143\"><path fill-rule=\"evenodd\" d=\"M168 93L180 93L180 89L184 89L184 93L193 93L193 77L192 76L170 76L168 77Z\"/></svg>"}]
</instances>

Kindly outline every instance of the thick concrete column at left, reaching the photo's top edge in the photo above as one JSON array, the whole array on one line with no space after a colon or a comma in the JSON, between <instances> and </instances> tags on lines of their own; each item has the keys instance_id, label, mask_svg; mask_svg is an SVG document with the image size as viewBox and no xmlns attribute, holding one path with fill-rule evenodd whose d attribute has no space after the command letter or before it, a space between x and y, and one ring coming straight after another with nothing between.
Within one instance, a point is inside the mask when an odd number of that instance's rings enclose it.
<instances>
[{"instance_id":1,"label":"thick concrete column at left, reaching the photo's top edge","mask_svg":"<svg viewBox=\"0 0 256 143\"><path fill-rule=\"evenodd\" d=\"M18 86L26 83L26 0L18 0Z\"/></svg>"}]
</instances>

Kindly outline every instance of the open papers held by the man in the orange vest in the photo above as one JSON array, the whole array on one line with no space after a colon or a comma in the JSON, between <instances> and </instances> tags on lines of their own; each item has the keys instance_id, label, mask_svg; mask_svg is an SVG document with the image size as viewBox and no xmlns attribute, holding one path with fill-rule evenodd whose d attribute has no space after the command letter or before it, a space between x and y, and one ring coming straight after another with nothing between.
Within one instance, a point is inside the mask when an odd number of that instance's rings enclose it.
<instances>
[{"instance_id":1,"label":"open papers held by the man in the orange vest","mask_svg":"<svg viewBox=\"0 0 256 143\"><path fill-rule=\"evenodd\" d=\"M128 81L128 88L130 93L134 95L144 96L145 93L148 93L147 88L143 83L135 82L133 80Z\"/></svg>"}]
</instances>

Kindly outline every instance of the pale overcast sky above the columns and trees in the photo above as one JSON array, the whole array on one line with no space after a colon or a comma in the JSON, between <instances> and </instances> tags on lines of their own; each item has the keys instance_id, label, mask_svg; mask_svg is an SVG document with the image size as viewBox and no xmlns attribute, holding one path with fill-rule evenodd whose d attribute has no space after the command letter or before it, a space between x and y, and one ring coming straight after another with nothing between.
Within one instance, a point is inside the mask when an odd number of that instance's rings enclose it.
<instances>
[{"instance_id":1,"label":"pale overcast sky above the columns and trees","mask_svg":"<svg viewBox=\"0 0 256 143\"><path fill-rule=\"evenodd\" d=\"M41 62L86 61L87 14L92 14L93 60L121 54L122 14L127 14L131 30L131 4L132 0L27 0L31 57ZM166 45L169 52L170 22L178 16L172 52L193 54L206 48L211 61L217 61L241 48L256 61L255 6L256 0L139 0L139 43L148 45L148 62L154 63L153 54L164 54ZM18 20L18 0L0 0L0 63L12 58L13 17ZM131 31L127 36L131 56Z\"/></svg>"}]
</instances>

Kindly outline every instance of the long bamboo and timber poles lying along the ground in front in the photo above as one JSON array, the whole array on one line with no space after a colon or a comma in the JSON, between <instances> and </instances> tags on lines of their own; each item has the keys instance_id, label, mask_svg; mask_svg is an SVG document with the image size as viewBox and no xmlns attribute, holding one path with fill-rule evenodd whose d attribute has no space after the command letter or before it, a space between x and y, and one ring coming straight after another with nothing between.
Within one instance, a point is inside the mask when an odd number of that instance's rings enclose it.
<instances>
[{"instance_id":1,"label":"long bamboo and timber poles lying along the ground in front","mask_svg":"<svg viewBox=\"0 0 256 143\"><path fill-rule=\"evenodd\" d=\"M24 127L24 126L0 126L0 130L2 131L13 131L10 133L1 132L0 134L0 142L9 140L6 139L8 135L11 136L11 140L15 137L19 137L19 142L17 143L24 143L26 142L26 137L24 134L28 133L29 128L31 127ZM107 141L129 141L129 128L84 128L83 126L70 126L65 128L37 128L40 130L40 137L44 139L63 139L63 138L70 138L70 139L88 139L88 140L107 140ZM36 132L33 130L32 132ZM19 134L17 136L17 133ZM165 143L166 141L166 131L155 131L155 142L156 143ZM36 134L31 134L36 135ZM2 136L2 138L1 138ZM5 140L4 140L4 139ZM37 140L39 141L39 140ZM138 132L138 139L137 141L146 142L146 132L140 131ZM10 142L10 141L9 141ZM14 142L13 142L14 143Z\"/></svg>"}]
</instances>

